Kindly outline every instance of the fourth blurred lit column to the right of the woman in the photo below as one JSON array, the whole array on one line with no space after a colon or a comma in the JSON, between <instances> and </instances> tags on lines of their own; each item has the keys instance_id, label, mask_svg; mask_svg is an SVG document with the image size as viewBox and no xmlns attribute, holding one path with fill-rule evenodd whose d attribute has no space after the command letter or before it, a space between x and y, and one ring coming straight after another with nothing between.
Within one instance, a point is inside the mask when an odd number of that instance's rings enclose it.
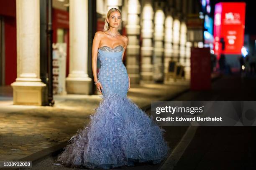
<instances>
[{"instance_id":1,"label":"fourth blurred lit column to the right of the woman","mask_svg":"<svg viewBox=\"0 0 256 170\"><path fill-rule=\"evenodd\" d=\"M164 24L164 73L168 72L169 61L172 59L172 26L173 18L171 8L166 7L166 19Z\"/></svg>"}]
</instances>

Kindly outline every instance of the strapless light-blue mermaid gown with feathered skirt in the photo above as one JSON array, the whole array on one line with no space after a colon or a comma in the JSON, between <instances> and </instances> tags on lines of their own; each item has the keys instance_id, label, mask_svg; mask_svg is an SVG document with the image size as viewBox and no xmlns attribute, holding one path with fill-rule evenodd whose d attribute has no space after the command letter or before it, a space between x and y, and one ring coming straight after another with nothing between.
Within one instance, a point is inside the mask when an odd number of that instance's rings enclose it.
<instances>
[{"instance_id":1,"label":"strapless light-blue mermaid gown with feathered skirt","mask_svg":"<svg viewBox=\"0 0 256 170\"><path fill-rule=\"evenodd\" d=\"M115 168L135 162L160 163L170 148L164 130L127 98L128 74L122 62L123 46L98 49L102 101L90 123L77 131L57 162L65 166Z\"/></svg>"}]
</instances>

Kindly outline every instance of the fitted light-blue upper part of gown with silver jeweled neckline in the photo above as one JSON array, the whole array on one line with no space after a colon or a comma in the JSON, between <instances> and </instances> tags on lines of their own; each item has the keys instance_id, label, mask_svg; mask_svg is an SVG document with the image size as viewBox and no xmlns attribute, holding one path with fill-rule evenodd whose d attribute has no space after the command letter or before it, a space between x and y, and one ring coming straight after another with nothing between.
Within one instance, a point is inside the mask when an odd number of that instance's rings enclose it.
<instances>
[{"instance_id":1,"label":"fitted light-blue upper part of gown with silver jeweled neckline","mask_svg":"<svg viewBox=\"0 0 256 170\"><path fill-rule=\"evenodd\" d=\"M119 94L126 96L128 91L128 74L122 61L123 46L110 48L102 46L98 50L100 71L98 79L102 85L102 94Z\"/></svg>"}]
</instances>

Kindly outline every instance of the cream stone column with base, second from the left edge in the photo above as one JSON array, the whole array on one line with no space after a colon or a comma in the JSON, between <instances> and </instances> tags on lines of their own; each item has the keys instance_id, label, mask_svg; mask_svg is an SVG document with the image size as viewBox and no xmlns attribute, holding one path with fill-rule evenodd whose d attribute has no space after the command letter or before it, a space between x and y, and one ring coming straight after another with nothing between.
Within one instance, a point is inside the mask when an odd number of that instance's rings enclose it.
<instances>
[{"instance_id":1,"label":"cream stone column with base, second from the left edge","mask_svg":"<svg viewBox=\"0 0 256 170\"><path fill-rule=\"evenodd\" d=\"M87 74L88 0L69 1L69 75L67 92L92 94L92 79Z\"/></svg>"}]
</instances>

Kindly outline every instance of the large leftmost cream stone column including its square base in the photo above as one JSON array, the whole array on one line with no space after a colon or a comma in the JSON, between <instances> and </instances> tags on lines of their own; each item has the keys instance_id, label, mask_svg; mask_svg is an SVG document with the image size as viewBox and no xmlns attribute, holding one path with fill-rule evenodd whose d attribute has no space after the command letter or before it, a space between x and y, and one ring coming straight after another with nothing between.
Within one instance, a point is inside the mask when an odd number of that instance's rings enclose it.
<instances>
[{"instance_id":1,"label":"large leftmost cream stone column including its square base","mask_svg":"<svg viewBox=\"0 0 256 170\"><path fill-rule=\"evenodd\" d=\"M40 78L40 0L16 0L17 78L14 105L46 105L47 87Z\"/></svg>"}]
</instances>

